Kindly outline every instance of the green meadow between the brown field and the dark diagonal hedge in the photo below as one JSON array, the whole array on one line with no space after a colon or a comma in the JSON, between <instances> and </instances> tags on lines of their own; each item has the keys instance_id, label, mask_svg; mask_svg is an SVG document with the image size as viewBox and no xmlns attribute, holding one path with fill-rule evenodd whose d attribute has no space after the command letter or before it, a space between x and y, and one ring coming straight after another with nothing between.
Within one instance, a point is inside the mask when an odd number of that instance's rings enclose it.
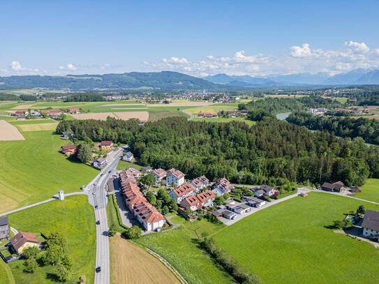
<instances>
[{"instance_id":1,"label":"green meadow between the brown field and the dark diagonal hedge","mask_svg":"<svg viewBox=\"0 0 379 284\"><path fill-rule=\"evenodd\" d=\"M138 244L165 258L188 283L233 283L230 276L218 269L193 240L202 232L213 233L223 225L204 220L190 223L179 217L172 218L172 222L182 225L179 229L144 236L137 240Z\"/></svg>"}]
</instances>

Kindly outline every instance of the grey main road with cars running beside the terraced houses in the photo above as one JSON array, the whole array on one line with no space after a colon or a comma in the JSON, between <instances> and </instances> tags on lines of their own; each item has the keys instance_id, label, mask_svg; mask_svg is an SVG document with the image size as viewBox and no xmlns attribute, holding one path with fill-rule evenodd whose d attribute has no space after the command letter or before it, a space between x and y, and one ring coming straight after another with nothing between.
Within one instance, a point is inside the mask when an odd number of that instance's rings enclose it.
<instances>
[{"instance_id":1,"label":"grey main road with cars running beside the terraced houses","mask_svg":"<svg viewBox=\"0 0 379 284\"><path fill-rule=\"evenodd\" d=\"M105 186L107 180L116 171L122 149L114 151L107 157L108 164L101 170L97 177L84 189L88 193L89 203L94 206L96 221L96 267L101 267L101 272L95 272L95 284L110 283L110 252L107 224L107 193Z\"/></svg>"}]
</instances>

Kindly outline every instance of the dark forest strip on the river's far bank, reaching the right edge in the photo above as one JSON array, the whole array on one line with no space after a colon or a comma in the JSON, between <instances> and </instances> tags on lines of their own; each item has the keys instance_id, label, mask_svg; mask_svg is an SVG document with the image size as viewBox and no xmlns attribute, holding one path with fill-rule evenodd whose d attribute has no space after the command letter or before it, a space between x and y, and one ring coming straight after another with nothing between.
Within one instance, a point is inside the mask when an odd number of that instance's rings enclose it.
<instances>
[{"instance_id":1,"label":"dark forest strip on the river's far bank, reaching the right edge","mask_svg":"<svg viewBox=\"0 0 379 284\"><path fill-rule=\"evenodd\" d=\"M362 137L367 143L379 144L379 121L374 119L327 117L295 112L290 114L287 121L311 130L329 131L341 137Z\"/></svg>"}]
</instances>

